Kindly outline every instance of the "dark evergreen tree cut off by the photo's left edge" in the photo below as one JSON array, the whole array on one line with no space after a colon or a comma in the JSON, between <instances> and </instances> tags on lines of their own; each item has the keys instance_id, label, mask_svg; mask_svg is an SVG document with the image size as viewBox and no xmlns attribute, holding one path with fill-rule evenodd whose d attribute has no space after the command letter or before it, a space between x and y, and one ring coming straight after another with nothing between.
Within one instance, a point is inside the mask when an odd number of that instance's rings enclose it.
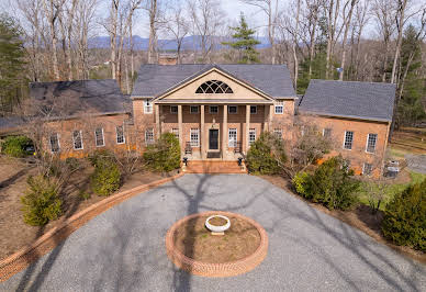
<instances>
[{"instance_id":1,"label":"dark evergreen tree cut off by the photo's left edge","mask_svg":"<svg viewBox=\"0 0 426 292\"><path fill-rule=\"evenodd\" d=\"M0 15L0 115L11 112L22 99L25 50L21 27L7 14Z\"/></svg>"}]
</instances>

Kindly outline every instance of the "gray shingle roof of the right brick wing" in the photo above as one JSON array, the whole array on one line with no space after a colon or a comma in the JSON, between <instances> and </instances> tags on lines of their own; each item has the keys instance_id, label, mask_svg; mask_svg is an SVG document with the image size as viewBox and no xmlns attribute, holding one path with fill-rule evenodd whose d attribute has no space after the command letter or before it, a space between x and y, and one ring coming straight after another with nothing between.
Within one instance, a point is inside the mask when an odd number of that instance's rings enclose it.
<instances>
[{"instance_id":1,"label":"gray shingle roof of the right brick wing","mask_svg":"<svg viewBox=\"0 0 426 292\"><path fill-rule=\"evenodd\" d=\"M299 110L316 114L392 121L395 85L311 80Z\"/></svg>"}]
</instances>

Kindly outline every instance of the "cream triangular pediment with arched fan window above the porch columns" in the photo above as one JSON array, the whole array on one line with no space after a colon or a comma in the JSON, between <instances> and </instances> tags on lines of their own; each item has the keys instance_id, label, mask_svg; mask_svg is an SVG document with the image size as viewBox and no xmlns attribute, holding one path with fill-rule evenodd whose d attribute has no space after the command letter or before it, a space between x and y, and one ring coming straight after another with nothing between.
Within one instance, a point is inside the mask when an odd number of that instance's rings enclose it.
<instances>
[{"instance_id":1,"label":"cream triangular pediment with arched fan window above the porch columns","mask_svg":"<svg viewBox=\"0 0 426 292\"><path fill-rule=\"evenodd\" d=\"M244 80L213 67L168 89L154 101L157 103L177 101L271 103L273 99Z\"/></svg>"}]
</instances>

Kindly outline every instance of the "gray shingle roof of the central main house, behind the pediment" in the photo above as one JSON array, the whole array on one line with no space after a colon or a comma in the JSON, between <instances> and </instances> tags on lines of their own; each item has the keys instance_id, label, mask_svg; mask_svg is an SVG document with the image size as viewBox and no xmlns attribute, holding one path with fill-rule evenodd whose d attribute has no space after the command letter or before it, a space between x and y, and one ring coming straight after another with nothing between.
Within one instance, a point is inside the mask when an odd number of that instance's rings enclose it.
<instances>
[{"instance_id":1,"label":"gray shingle roof of the central main house, behind the pediment","mask_svg":"<svg viewBox=\"0 0 426 292\"><path fill-rule=\"evenodd\" d=\"M132 97L157 97L195 76L216 67L272 98L294 98L285 65L142 65Z\"/></svg>"}]
</instances>

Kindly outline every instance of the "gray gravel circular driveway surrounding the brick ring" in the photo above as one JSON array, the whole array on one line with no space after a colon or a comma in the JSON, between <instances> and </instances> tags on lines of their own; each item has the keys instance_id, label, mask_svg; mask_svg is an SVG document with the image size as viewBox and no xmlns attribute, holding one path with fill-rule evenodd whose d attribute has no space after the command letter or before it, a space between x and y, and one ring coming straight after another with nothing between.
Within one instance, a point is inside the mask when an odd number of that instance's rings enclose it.
<instances>
[{"instance_id":1,"label":"gray gravel circular driveway surrounding the brick ring","mask_svg":"<svg viewBox=\"0 0 426 292\"><path fill-rule=\"evenodd\" d=\"M268 256L233 278L173 267L165 235L179 218L222 210L269 236ZM186 175L97 216L0 291L425 291L426 268L247 175Z\"/></svg>"}]
</instances>

